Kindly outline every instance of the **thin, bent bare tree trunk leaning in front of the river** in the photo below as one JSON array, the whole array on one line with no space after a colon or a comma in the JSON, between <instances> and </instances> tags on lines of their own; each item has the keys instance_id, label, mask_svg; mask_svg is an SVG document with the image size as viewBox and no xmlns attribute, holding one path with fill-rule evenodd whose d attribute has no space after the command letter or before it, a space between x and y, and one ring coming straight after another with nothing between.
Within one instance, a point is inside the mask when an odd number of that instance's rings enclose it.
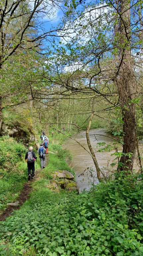
<instances>
[{"instance_id":1,"label":"thin, bent bare tree trunk leaning in front of the river","mask_svg":"<svg viewBox=\"0 0 143 256\"><path fill-rule=\"evenodd\" d=\"M96 173L97 173L97 178L99 181L102 180L101 176L100 176L100 168L99 168L99 165L97 163L97 159L95 157L95 154L94 154L94 151L92 149L92 146L91 146L91 143L90 143L90 139L89 139L89 130L90 130L90 127L91 127L91 122L92 122L92 118L94 116L94 101L95 99L93 98L93 102L92 102L92 113L91 113L91 116L90 116L90 120L88 122L88 125L87 125L87 128L86 128L86 140L87 140L87 145L88 145L88 148L90 150L90 153L91 153L91 156L92 156L92 159L93 159L93 162L94 162L94 165L96 167Z\"/></svg>"}]
</instances>

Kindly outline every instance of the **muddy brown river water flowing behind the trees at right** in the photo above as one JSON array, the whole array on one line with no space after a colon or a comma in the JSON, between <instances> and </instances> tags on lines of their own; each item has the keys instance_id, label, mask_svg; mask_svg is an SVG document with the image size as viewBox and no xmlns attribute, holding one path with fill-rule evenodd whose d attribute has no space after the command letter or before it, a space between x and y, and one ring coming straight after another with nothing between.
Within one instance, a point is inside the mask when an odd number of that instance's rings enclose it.
<instances>
[{"instance_id":1,"label":"muddy brown river water flowing behind the trees at right","mask_svg":"<svg viewBox=\"0 0 143 256\"><path fill-rule=\"evenodd\" d=\"M94 136L94 134L100 134L100 135ZM102 170L105 173L109 171L112 172L115 169L115 167L111 167L110 164L115 159L115 156L111 156L111 154L114 153L115 151L114 150L110 152L96 152L96 151L101 148L97 145L98 142L105 142L106 144L113 142L113 139L105 136L110 136L112 138L115 138L115 137L112 135L106 134L104 129L92 129L90 130L89 135L90 135L90 142L94 149L94 152L96 153L95 155L100 168L102 168ZM80 144L82 144L89 151L87 142L86 142L85 131L72 136L72 138L76 139ZM81 192L83 189L88 190L91 187L93 183L93 178L89 177L90 172L94 176L94 184L97 184L98 179L96 177L95 166L94 166L92 157L88 154L88 152L85 151L77 142L75 142L72 139L69 139L68 141L66 141L66 143L64 144L64 147L69 149L73 156L70 166L75 170L76 183L77 183L77 186L79 187L79 192ZM121 152L122 148L121 147L118 148L118 151ZM139 168L138 164L135 161L134 169L138 169L138 168Z\"/></svg>"}]
</instances>

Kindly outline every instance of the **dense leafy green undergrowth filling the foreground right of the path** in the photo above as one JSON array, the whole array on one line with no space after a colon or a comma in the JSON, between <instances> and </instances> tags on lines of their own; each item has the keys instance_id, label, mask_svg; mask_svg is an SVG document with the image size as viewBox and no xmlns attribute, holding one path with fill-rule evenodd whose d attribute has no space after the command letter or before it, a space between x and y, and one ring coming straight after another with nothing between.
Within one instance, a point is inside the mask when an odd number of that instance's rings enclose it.
<instances>
[{"instance_id":1,"label":"dense leafy green undergrowth filling the foreground right of the path","mask_svg":"<svg viewBox=\"0 0 143 256\"><path fill-rule=\"evenodd\" d=\"M120 177L79 195L52 192L45 178L37 182L31 198L0 225L1 255L143 255L141 176Z\"/></svg>"}]
</instances>

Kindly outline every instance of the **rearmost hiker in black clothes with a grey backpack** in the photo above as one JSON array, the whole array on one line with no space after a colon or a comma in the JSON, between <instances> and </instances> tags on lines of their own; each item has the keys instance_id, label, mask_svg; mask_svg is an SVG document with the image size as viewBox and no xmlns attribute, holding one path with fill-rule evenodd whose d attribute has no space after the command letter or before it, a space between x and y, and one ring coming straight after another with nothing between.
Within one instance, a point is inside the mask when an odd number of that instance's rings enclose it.
<instances>
[{"instance_id":1,"label":"rearmost hiker in black clothes with a grey backpack","mask_svg":"<svg viewBox=\"0 0 143 256\"><path fill-rule=\"evenodd\" d=\"M28 180L31 179L31 170L32 170L32 179L34 179L34 173L35 173L35 160L37 159L37 156L35 155L35 152L32 151L33 147L29 147L29 151L26 152L25 160L27 162L28 166Z\"/></svg>"}]
</instances>

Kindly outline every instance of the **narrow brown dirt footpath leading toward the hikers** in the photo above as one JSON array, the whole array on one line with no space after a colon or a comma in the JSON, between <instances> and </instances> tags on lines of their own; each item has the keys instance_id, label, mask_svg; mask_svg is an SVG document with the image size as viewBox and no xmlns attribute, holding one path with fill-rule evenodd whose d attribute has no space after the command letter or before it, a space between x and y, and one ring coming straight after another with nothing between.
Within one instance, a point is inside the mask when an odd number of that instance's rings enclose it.
<instances>
[{"instance_id":1,"label":"narrow brown dirt footpath leading toward the hikers","mask_svg":"<svg viewBox=\"0 0 143 256\"><path fill-rule=\"evenodd\" d=\"M46 166L48 164L48 158L46 157ZM42 169L38 169L37 170L37 174L39 174L39 172ZM0 215L0 221L4 221L7 217L9 217L11 215L11 213L13 212L13 210L19 209L20 206L28 199L29 197L29 193L32 191L32 183L38 178L38 176L36 177L36 171L35 171L35 178L33 180L30 180L28 182L26 182L23 186L23 189L19 195L19 197L17 198L17 201L19 201L18 205L9 205L5 211Z\"/></svg>"}]
</instances>

